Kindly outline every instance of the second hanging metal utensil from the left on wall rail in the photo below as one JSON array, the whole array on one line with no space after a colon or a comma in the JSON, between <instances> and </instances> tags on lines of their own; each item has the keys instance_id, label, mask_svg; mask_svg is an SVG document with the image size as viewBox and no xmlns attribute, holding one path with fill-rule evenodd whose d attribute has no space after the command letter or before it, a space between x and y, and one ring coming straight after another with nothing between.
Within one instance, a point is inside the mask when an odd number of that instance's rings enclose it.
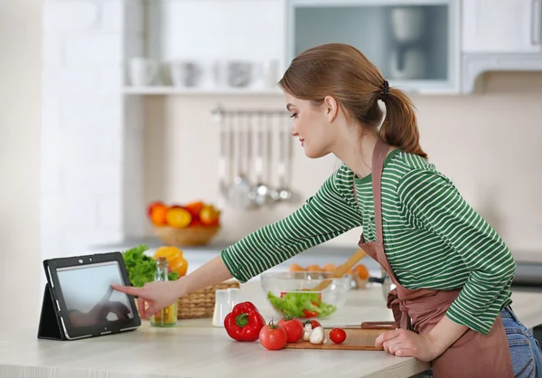
<instances>
[{"instance_id":1,"label":"second hanging metal utensil from the left on wall rail","mask_svg":"<svg viewBox=\"0 0 542 378\"><path fill-rule=\"evenodd\" d=\"M229 192L229 202L231 205L238 209L246 210L250 205L250 181L245 171L245 165L243 161L245 159L244 153L248 151L248 128L243 128L239 118L237 122L237 146L238 146L238 172L233 180L231 185L231 190ZM244 125L246 126L246 125ZM243 141L243 138L246 138Z\"/></svg>"}]
</instances>

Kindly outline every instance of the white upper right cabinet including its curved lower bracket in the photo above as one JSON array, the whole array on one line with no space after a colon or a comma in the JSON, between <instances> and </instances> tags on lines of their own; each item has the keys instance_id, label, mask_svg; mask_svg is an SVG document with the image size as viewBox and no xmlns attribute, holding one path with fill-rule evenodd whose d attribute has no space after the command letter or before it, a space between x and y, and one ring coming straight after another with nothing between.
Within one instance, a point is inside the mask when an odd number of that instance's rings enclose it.
<instances>
[{"instance_id":1,"label":"white upper right cabinet including its curved lower bracket","mask_svg":"<svg viewBox=\"0 0 542 378\"><path fill-rule=\"evenodd\" d=\"M463 0L461 91L486 71L542 71L542 0Z\"/></svg>"}]
</instances>

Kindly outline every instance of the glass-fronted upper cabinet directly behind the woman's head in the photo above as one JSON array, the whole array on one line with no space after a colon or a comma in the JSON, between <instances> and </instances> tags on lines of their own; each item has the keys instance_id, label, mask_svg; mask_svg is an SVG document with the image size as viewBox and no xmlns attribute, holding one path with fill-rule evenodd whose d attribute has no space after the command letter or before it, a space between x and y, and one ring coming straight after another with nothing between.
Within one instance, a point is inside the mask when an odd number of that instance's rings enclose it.
<instances>
[{"instance_id":1,"label":"glass-fronted upper cabinet directly behind the woman's head","mask_svg":"<svg viewBox=\"0 0 542 378\"><path fill-rule=\"evenodd\" d=\"M348 43L390 85L419 93L459 91L459 6L454 0L289 0L287 55Z\"/></svg>"}]
</instances>

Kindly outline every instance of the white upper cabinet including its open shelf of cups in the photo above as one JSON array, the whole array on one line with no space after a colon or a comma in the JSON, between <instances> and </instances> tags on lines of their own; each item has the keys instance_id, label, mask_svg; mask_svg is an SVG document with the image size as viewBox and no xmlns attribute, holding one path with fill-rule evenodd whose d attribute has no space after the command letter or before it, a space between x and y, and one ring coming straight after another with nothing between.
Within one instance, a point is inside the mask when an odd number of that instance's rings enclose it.
<instances>
[{"instance_id":1,"label":"white upper cabinet including its open shelf of cups","mask_svg":"<svg viewBox=\"0 0 542 378\"><path fill-rule=\"evenodd\" d=\"M126 36L127 93L279 92L283 0L126 1L144 14L143 33Z\"/></svg>"}]
</instances>

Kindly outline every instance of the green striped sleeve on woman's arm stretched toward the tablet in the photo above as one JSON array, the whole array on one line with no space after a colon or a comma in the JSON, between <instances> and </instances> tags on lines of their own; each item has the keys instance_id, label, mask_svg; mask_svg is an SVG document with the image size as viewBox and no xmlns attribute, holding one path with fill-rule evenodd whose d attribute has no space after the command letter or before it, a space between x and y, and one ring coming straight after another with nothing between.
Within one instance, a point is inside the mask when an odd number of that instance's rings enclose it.
<instances>
[{"instance_id":1,"label":"green striped sleeve on woman's arm stretched toward the tablet","mask_svg":"<svg viewBox=\"0 0 542 378\"><path fill-rule=\"evenodd\" d=\"M337 189L338 172L294 213L222 250L220 256L232 276L246 282L303 250L360 226L361 214Z\"/></svg>"}]
</instances>

